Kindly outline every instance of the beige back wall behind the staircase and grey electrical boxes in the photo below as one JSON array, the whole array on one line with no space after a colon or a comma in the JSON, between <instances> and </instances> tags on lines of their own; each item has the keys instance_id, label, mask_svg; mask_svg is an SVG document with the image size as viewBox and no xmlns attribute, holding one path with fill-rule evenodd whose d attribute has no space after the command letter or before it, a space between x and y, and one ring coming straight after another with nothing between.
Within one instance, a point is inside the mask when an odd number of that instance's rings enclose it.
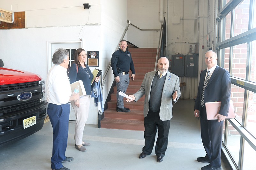
<instances>
[{"instance_id":1,"label":"beige back wall behind the staircase and grey electrical boxes","mask_svg":"<svg viewBox=\"0 0 256 170\"><path fill-rule=\"evenodd\" d=\"M206 69L204 60L204 54L207 51L206 36L208 33L212 34L213 28L212 25L208 27L208 19L210 19L209 23L213 23L212 18L214 18L212 16L214 1L209 2L210 8L208 1L205 0L164 0L169 59L176 53L192 55L189 53L189 46L200 43L198 77L180 77L181 82L186 82L186 86L182 87L182 98L193 99L197 95L200 71ZM160 0L128 0L127 19L142 29L160 28L159 4ZM180 23L173 24L173 17L179 17ZM159 32L140 31L130 25L127 39L138 47L157 47ZM201 48L202 45L204 49ZM211 46L212 44L209 47Z\"/></svg>"}]
</instances>

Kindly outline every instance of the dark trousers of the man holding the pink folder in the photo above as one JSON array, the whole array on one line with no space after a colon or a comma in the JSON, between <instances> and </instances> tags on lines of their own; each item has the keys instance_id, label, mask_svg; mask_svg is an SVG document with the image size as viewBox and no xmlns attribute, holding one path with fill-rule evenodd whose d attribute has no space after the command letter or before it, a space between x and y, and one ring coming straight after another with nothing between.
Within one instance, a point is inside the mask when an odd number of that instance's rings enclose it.
<instances>
[{"instance_id":1,"label":"dark trousers of the man holding the pink folder","mask_svg":"<svg viewBox=\"0 0 256 170\"><path fill-rule=\"evenodd\" d=\"M200 113L201 138L210 165L221 166L221 145L223 121L207 120L205 106Z\"/></svg>"}]
</instances>

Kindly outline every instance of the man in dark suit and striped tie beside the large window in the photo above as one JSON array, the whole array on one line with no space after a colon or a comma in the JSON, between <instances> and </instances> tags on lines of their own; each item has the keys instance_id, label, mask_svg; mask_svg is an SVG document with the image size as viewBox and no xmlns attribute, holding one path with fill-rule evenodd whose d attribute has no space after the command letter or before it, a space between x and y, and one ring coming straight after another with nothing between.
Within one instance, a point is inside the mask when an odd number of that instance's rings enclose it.
<instances>
[{"instance_id":1,"label":"man in dark suit and striped tie beside the large window","mask_svg":"<svg viewBox=\"0 0 256 170\"><path fill-rule=\"evenodd\" d=\"M231 81L227 70L217 65L217 53L207 51L205 63L207 69L200 74L198 93L195 101L195 117L200 117L201 138L206 156L197 158L198 162L209 162L210 164L201 170L221 170L221 145L223 121L228 116ZM221 102L217 120L207 120L206 102Z\"/></svg>"}]
</instances>

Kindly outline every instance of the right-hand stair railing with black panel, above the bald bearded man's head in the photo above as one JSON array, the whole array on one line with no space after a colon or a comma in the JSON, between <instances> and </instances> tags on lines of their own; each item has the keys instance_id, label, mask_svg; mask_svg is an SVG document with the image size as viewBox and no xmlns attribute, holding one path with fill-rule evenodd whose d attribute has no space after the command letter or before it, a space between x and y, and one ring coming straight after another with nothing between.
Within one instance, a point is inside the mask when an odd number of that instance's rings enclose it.
<instances>
[{"instance_id":1,"label":"right-hand stair railing with black panel, above the bald bearded man's head","mask_svg":"<svg viewBox=\"0 0 256 170\"><path fill-rule=\"evenodd\" d=\"M160 29L159 43L158 43L156 57L155 57L155 68L154 68L154 70L156 70L158 59L160 57L163 57L163 56L166 55L166 35L167 35L166 32L167 32L166 22L165 22L165 18L164 18L163 24L161 24L161 29ZM161 42L160 42L160 39L161 39ZM159 54L159 48L160 48L160 54Z\"/></svg>"}]
</instances>

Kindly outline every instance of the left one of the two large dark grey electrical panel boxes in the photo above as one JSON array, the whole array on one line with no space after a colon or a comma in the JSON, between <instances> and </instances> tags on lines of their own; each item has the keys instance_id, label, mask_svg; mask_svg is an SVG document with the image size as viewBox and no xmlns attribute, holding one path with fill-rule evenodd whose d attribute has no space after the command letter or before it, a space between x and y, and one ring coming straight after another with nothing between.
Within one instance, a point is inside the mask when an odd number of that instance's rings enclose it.
<instances>
[{"instance_id":1,"label":"left one of the two large dark grey electrical panel boxes","mask_svg":"<svg viewBox=\"0 0 256 170\"><path fill-rule=\"evenodd\" d=\"M171 73L178 77L184 76L184 55L171 56Z\"/></svg>"}]
</instances>

